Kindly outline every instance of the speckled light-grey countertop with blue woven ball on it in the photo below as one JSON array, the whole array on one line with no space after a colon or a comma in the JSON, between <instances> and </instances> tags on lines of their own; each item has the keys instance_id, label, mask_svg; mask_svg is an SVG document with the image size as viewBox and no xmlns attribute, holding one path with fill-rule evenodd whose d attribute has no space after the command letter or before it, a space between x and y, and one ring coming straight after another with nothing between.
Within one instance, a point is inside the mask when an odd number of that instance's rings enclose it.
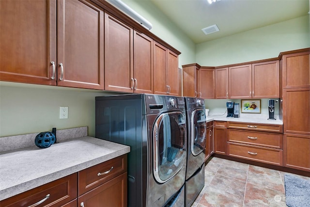
<instances>
[{"instance_id":1,"label":"speckled light-grey countertop with blue woven ball on it","mask_svg":"<svg viewBox=\"0 0 310 207\"><path fill-rule=\"evenodd\" d=\"M81 137L0 154L0 200L130 152L130 147Z\"/></svg>"}]
</instances>

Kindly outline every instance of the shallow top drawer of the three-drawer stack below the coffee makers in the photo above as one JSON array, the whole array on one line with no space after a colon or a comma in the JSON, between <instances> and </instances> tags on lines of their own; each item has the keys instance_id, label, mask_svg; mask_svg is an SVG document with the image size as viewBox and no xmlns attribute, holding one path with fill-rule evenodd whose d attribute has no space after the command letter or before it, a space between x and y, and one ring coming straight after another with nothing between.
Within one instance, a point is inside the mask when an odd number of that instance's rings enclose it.
<instances>
[{"instance_id":1,"label":"shallow top drawer of the three-drawer stack below the coffee makers","mask_svg":"<svg viewBox=\"0 0 310 207\"><path fill-rule=\"evenodd\" d=\"M267 125L267 124L256 124L256 123L228 122L227 128L269 131L269 132L279 132L279 133L283 132L283 125Z\"/></svg>"}]
</instances>

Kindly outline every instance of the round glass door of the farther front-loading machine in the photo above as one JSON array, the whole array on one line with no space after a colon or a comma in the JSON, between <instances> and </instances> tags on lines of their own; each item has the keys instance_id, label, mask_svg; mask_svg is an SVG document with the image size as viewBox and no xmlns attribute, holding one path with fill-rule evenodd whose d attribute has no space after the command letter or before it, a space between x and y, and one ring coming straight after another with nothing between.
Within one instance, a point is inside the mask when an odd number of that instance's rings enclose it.
<instances>
[{"instance_id":1,"label":"round glass door of the farther front-loading machine","mask_svg":"<svg viewBox=\"0 0 310 207\"><path fill-rule=\"evenodd\" d=\"M190 149L193 155L199 155L205 147L206 116L204 109L194 110L190 120Z\"/></svg>"}]
</instances>

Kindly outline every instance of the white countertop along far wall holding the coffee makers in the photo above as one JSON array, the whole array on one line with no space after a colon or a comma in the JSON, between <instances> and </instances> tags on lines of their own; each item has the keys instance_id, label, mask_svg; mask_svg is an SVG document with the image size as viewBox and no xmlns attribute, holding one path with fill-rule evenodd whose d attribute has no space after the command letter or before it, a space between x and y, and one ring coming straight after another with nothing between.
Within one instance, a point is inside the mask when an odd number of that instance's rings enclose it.
<instances>
[{"instance_id":1,"label":"white countertop along far wall holding the coffee makers","mask_svg":"<svg viewBox=\"0 0 310 207\"><path fill-rule=\"evenodd\" d=\"M240 118L227 118L224 116L207 116L207 122L210 121L227 121L227 122L246 122L246 123L257 123L257 124L270 124L270 125L283 125L283 122L279 119L277 120L268 120L265 117L260 116L248 116L248 117L240 117Z\"/></svg>"}]
</instances>

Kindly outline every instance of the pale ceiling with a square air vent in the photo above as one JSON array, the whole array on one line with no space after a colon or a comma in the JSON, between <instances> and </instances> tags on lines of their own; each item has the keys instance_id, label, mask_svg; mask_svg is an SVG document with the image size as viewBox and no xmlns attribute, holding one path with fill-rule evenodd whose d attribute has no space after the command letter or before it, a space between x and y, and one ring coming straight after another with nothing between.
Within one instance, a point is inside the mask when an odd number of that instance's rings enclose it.
<instances>
[{"instance_id":1,"label":"pale ceiling with a square air vent","mask_svg":"<svg viewBox=\"0 0 310 207\"><path fill-rule=\"evenodd\" d=\"M150 0L195 43L308 15L310 0ZM217 24L219 32L202 28Z\"/></svg>"}]
</instances>

